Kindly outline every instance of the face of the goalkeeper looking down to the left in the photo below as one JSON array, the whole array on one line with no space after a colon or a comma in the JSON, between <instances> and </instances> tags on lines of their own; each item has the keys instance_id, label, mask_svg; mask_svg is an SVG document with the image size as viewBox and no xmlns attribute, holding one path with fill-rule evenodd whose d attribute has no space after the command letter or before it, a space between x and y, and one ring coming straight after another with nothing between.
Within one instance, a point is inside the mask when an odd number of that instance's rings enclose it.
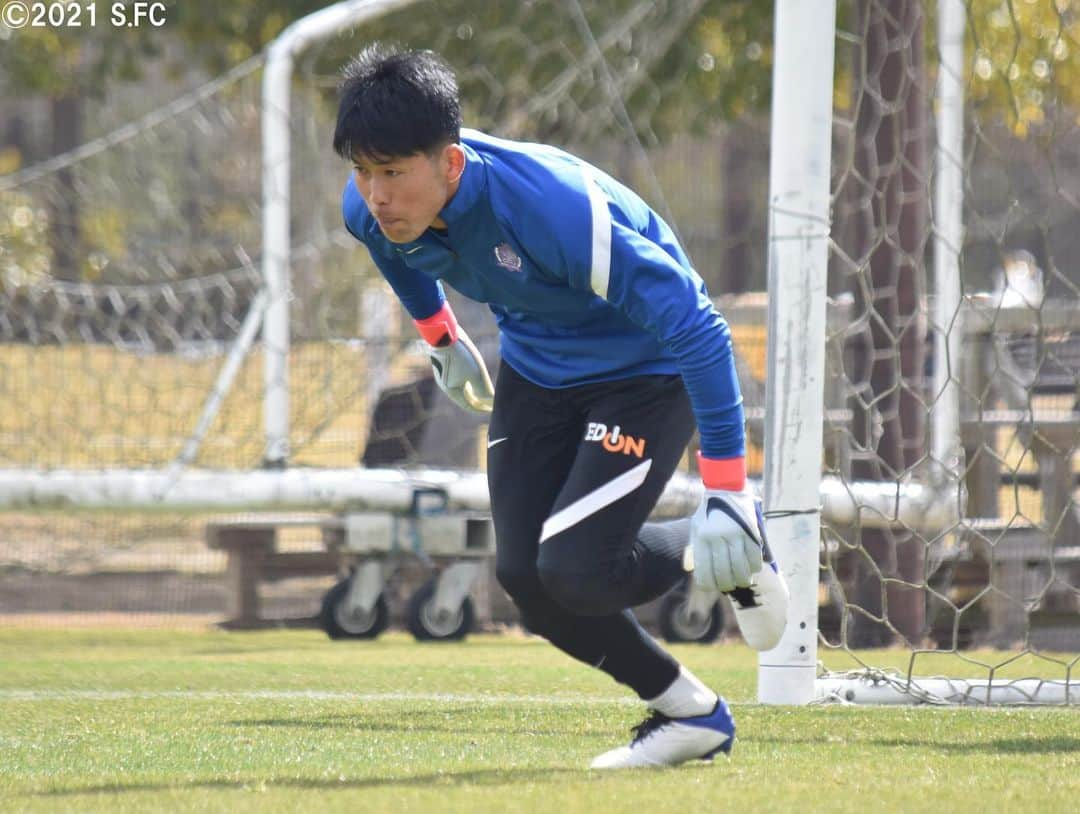
<instances>
[{"instance_id":1,"label":"face of the goalkeeper looking down to the left","mask_svg":"<svg viewBox=\"0 0 1080 814\"><path fill-rule=\"evenodd\" d=\"M387 240L408 243L430 226L446 226L438 213L457 191L464 154L447 145L435 155L356 155L353 165L356 189Z\"/></svg>"}]
</instances>

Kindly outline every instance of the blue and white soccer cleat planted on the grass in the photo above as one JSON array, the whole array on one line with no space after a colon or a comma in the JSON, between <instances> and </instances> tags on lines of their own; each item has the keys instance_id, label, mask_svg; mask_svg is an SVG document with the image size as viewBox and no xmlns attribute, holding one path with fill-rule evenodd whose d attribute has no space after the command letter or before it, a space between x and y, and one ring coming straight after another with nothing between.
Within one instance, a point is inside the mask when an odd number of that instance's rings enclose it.
<instances>
[{"instance_id":1,"label":"blue and white soccer cleat planted on the grass","mask_svg":"<svg viewBox=\"0 0 1080 814\"><path fill-rule=\"evenodd\" d=\"M724 698L719 698L712 713L696 718L669 718L653 711L633 732L630 746L604 752L590 769L667 766L688 760L712 760L717 752L731 751L735 721Z\"/></svg>"}]
</instances>

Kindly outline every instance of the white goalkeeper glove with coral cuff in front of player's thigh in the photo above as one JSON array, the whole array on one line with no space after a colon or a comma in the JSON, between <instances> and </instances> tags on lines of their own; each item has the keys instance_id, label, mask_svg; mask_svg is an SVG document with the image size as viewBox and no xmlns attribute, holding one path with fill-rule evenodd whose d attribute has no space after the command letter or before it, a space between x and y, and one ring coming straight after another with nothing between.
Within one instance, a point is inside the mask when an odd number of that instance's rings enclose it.
<instances>
[{"instance_id":1,"label":"white goalkeeper glove with coral cuff in front of player's thigh","mask_svg":"<svg viewBox=\"0 0 1080 814\"><path fill-rule=\"evenodd\" d=\"M484 358L450 310L450 303L426 320L415 321L428 341L428 356L435 382L450 401L471 412L490 412L495 388Z\"/></svg>"}]
</instances>

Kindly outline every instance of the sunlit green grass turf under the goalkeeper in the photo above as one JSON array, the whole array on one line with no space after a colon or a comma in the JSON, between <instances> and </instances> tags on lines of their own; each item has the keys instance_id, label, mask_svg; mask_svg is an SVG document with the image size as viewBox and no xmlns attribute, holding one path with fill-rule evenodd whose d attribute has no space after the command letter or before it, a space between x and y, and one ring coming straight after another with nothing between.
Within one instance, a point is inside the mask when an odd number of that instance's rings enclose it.
<instances>
[{"instance_id":1,"label":"sunlit green grass turf under the goalkeeper","mask_svg":"<svg viewBox=\"0 0 1080 814\"><path fill-rule=\"evenodd\" d=\"M760 707L748 650L675 650L732 758L602 774L642 710L537 640L0 630L0 811L1076 811L1076 709Z\"/></svg>"}]
</instances>

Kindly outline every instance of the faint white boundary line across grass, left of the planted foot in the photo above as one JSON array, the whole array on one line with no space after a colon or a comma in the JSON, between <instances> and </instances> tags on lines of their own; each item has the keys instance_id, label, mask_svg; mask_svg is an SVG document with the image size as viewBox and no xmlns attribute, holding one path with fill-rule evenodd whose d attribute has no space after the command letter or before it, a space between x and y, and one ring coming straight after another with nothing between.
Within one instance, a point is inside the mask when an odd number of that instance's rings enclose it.
<instances>
[{"instance_id":1,"label":"faint white boundary line across grass, left of the planted foot","mask_svg":"<svg viewBox=\"0 0 1080 814\"><path fill-rule=\"evenodd\" d=\"M636 705L630 697L569 697L441 692L337 692L326 690L21 690L0 689L10 701L347 701L354 703L442 702L447 704Z\"/></svg>"}]
</instances>

